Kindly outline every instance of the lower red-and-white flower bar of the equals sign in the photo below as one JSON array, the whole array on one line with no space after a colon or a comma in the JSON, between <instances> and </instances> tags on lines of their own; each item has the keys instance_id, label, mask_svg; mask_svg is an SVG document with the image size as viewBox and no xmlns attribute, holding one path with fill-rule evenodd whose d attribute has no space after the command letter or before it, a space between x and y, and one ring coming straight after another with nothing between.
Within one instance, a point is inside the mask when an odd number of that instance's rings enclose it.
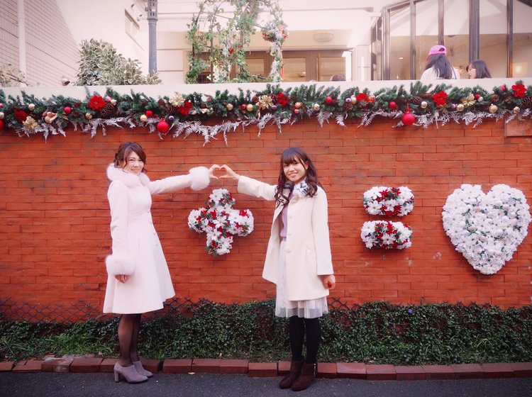
<instances>
[{"instance_id":1,"label":"lower red-and-white flower bar of the equals sign","mask_svg":"<svg viewBox=\"0 0 532 397\"><path fill-rule=\"evenodd\" d=\"M412 228L402 222L372 220L362 225L360 237L367 248L378 247L387 250L402 250L412 245Z\"/></svg>"}]
</instances>

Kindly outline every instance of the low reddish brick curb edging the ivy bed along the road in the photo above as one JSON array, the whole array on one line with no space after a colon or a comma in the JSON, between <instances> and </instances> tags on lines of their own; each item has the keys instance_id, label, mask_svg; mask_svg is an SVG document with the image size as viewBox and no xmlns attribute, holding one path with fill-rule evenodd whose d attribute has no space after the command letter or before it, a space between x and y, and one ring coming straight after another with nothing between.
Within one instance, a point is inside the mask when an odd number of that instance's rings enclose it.
<instances>
[{"instance_id":1,"label":"low reddish brick curb edging the ivy bed along the road","mask_svg":"<svg viewBox=\"0 0 532 397\"><path fill-rule=\"evenodd\" d=\"M142 359L148 371L163 374L248 374L275 377L287 374L289 361L249 362L246 359ZM44 360L0 362L0 372L113 372L116 359L47 357ZM417 381L442 379L493 379L532 377L532 362L452 364L452 365L390 365L360 362L318 363L318 378L350 378L368 381Z\"/></svg>"}]
</instances>

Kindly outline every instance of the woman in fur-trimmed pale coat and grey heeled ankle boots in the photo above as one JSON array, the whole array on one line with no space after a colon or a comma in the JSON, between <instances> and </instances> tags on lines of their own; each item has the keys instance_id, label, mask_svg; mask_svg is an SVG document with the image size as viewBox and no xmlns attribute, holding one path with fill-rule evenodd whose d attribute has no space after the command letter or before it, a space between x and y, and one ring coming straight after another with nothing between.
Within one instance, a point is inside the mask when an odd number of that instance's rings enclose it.
<instances>
[{"instance_id":1,"label":"woman in fur-trimmed pale coat and grey heeled ankle boots","mask_svg":"<svg viewBox=\"0 0 532 397\"><path fill-rule=\"evenodd\" d=\"M129 383L152 376L138 357L137 342L142 313L162 308L175 295L170 271L150 212L152 195L190 187L209 186L216 164L195 167L189 174L150 181L145 174L146 155L137 142L123 142L107 167L111 208L112 254L106 257L107 287L104 313L120 314L114 380Z\"/></svg>"}]
</instances>

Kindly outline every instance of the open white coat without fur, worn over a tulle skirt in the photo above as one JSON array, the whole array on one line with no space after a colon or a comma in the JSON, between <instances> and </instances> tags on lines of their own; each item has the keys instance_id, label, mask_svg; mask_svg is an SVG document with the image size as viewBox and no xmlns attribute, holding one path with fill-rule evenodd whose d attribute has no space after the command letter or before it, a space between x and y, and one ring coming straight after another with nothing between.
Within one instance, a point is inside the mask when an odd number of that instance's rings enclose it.
<instances>
[{"instance_id":1,"label":"open white coat without fur, worn over a tulle skirt","mask_svg":"<svg viewBox=\"0 0 532 397\"><path fill-rule=\"evenodd\" d=\"M277 185L240 176L238 191L268 201L275 200ZM270 241L262 277L277 284L279 273L280 232L282 230L282 206L276 206ZM288 203L287 298L289 301L306 301L328 296L320 275L333 274L331 244L329 242L327 196L318 186L314 197L300 198L296 194Z\"/></svg>"}]
</instances>

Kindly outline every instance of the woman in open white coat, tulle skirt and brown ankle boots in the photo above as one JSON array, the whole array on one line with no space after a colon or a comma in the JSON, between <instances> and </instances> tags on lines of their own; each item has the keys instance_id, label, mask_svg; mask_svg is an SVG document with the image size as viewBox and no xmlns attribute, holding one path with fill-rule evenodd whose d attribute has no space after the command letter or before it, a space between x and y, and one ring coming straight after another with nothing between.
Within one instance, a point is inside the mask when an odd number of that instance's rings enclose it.
<instances>
[{"instance_id":1,"label":"woman in open white coat, tulle skirt and brown ankle boots","mask_svg":"<svg viewBox=\"0 0 532 397\"><path fill-rule=\"evenodd\" d=\"M275 201L262 277L276 284L275 315L288 318L292 362L280 388L308 388L317 372L319 318L328 313L329 289L336 285L329 242L327 196L309 155L289 147L281 155L277 184L236 174L223 165L221 178L238 181L238 191ZM306 338L306 357L303 357Z\"/></svg>"}]
</instances>

